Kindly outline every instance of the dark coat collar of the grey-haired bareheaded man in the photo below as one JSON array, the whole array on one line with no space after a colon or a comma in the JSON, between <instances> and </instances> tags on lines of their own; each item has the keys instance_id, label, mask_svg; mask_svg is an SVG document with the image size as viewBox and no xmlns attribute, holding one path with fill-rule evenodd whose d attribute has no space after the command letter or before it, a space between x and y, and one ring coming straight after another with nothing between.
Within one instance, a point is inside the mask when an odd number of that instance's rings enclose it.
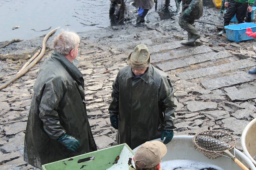
<instances>
[{"instance_id":1,"label":"dark coat collar of the grey-haired bareheaded man","mask_svg":"<svg viewBox=\"0 0 256 170\"><path fill-rule=\"evenodd\" d=\"M68 61L68 59L64 55L58 53L56 50L54 50L52 54L52 56L59 60L60 63L68 71L68 73L71 74L71 76L74 77L76 80L79 80L81 77L83 77L83 74L78 70L78 68L70 61Z\"/></svg>"}]
</instances>

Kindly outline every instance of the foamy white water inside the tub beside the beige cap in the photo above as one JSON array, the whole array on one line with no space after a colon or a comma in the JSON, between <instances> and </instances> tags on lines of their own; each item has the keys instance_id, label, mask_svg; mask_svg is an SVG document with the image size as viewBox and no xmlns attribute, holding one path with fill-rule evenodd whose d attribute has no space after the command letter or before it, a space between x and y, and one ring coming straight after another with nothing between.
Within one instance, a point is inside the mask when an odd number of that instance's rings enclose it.
<instances>
[{"instance_id":1,"label":"foamy white water inside the tub beside the beige cap","mask_svg":"<svg viewBox=\"0 0 256 170\"><path fill-rule=\"evenodd\" d=\"M216 165L187 159L163 161L161 167L163 170L223 170Z\"/></svg>"}]
</instances>

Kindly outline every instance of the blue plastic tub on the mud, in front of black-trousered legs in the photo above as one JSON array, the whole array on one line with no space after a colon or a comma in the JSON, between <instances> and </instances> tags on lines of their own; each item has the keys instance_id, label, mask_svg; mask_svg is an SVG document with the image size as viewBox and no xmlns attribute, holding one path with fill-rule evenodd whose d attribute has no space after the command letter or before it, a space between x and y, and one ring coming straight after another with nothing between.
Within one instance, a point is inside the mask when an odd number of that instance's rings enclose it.
<instances>
[{"instance_id":1,"label":"blue plastic tub on the mud, in front of black-trousered legs","mask_svg":"<svg viewBox=\"0 0 256 170\"><path fill-rule=\"evenodd\" d=\"M245 41L248 39L254 39L252 37L249 37L247 34L245 34L246 29L250 27L252 28L252 32L256 32L256 24L255 23L242 23L242 24L234 24L234 25L227 25L224 27L227 33L227 38L230 41Z\"/></svg>"}]
</instances>

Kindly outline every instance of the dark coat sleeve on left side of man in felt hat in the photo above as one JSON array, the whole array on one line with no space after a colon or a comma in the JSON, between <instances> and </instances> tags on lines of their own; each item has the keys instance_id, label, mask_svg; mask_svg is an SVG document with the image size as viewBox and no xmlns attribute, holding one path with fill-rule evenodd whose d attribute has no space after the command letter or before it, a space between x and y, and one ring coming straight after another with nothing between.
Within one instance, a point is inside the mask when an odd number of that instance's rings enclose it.
<instances>
[{"instance_id":1,"label":"dark coat sleeve on left side of man in felt hat","mask_svg":"<svg viewBox=\"0 0 256 170\"><path fill-rule=\"evenodd\" d=\"M118 72L115 81L113 82L113 90L112 90L112 100L108 108L108 112L110 115L118 115L118 106L119 106L119 75L120 71Z\"/></svg>"}]
</instances>

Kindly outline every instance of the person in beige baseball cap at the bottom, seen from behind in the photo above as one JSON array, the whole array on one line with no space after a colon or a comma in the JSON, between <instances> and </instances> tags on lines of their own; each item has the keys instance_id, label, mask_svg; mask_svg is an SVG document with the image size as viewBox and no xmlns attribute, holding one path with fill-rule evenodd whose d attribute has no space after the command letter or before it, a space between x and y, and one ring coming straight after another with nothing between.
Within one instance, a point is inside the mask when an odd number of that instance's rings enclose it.
<instances>
[{"instance_id":1,"label":"person in beige baseball cap at the bottom, seen from behind","mask_svg":"<svg viewBox=\"0 0 256 170\"><path fill-rule=\"evenodd\" d=\"M133 165L129 170L162 170L161 159L167 153L166 146L160 141L146 142L135 153Z\"/></svg>"}]
</instances>

